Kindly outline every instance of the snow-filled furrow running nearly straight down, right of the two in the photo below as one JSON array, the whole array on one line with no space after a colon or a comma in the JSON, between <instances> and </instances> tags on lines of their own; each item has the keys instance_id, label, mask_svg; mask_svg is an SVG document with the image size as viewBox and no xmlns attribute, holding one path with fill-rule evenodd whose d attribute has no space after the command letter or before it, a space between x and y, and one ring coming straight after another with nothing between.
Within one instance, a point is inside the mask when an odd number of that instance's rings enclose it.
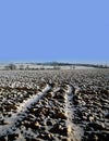
<instances>
[{"instance_id":1,"label":"snow-filled furrow running nearly straight down, right of the two","mask_svg":"<svg viewBox=\"0 0 109 141\"><path fill-rule=\"evenodd\" d=\"M73 112L73 88L66 86L65 92L65 115L66 115L66 128L68 128L68 140L69 141L81 141L83 130L77 125L73 124L74 112Z\"/></svg>"}]
</instances>

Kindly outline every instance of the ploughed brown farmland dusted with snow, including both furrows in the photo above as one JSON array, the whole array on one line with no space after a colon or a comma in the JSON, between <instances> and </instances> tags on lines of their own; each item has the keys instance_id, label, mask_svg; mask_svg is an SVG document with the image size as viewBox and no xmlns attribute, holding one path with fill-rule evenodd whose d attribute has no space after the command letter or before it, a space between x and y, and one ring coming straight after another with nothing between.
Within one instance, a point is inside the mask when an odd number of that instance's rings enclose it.
<instances>
[{"instance_id":1,"label":"ploughed brown farmland dusted with snow, including both furrows","mask_svg":"<svg viewBox=\"0 0 109 141\"><path fill-rule=\"evenodd\" d=\"M109 140L109 69L0 70L0 141Z\"/></svg>"}]
</instances>

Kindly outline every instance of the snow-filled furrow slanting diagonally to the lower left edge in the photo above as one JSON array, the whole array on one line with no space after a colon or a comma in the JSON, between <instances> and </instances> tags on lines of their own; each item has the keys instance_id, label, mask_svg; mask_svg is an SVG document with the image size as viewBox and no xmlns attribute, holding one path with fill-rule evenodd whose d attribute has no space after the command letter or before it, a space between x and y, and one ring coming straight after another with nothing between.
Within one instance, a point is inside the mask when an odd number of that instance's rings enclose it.
<instances>
[{"instance_id":1,"label":"snow-filled furrow slanting diagonally to the lower left edge","mask_svg":"<svg viewBox=\"0 0 109 141\"><path fill-rule=\"evenodd\" d=\"M8 125L0 126L0 137L12 133L16 126L19 126L20 121L27 116L28 108L31 108L34 103L37 103L40 99L43 99L50 89L51 87L47 85L43 92L39 92L21 103L17 112L7 118Z\"/></svg>"}]
</instances>

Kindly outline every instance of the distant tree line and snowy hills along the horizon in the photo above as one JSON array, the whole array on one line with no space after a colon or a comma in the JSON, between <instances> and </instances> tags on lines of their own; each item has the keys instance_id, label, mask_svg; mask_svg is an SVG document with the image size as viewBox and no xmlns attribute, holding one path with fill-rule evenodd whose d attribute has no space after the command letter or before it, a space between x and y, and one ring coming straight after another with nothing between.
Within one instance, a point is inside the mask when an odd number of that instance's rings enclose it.
<instances>
[{"instance_id":1,"label":"distant tree line and snowy hills along the horizon","mask_svg":"<svg viewBox=\"0 0 109 141\"><path fill-rule=\"evenodd\" d=\"M37 65L37 64L36 64ZM20 70L36 70L36 69L61 69L61 66L70 66L71 69L74 69L76 66L86 66L86 67L95 67L95 68L109 68L109 66L107 65L95 65L95 64L70 64L70 63L57 63L57 62L52 62L52 63L40 63L38 64L40 65L40 67L31 67L31 65L26 65L24 66L23 64L21 64L20 66L10 63L9 65L4 66L4 69L7 70L15 70L15 69L20 69ZM46 67L46 66L52 66L50 67Z\"/></svg>"}]
</instances>

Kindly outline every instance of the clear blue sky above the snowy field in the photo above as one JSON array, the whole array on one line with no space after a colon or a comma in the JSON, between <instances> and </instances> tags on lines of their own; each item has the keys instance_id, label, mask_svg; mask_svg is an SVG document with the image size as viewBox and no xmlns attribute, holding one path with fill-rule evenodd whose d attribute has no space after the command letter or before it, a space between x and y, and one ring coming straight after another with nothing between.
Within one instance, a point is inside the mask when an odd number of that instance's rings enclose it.
<instances>
[{"instance_id":1,"label":"clear blue sky above the snowy field","mask_svg":"<svg viewBox=\"0 0 109 141\"><path fill-rule=\"evenodd\" d=\"M109 63L109 0L0 0L0 62Z\"/></svg>"}]
</instances>

